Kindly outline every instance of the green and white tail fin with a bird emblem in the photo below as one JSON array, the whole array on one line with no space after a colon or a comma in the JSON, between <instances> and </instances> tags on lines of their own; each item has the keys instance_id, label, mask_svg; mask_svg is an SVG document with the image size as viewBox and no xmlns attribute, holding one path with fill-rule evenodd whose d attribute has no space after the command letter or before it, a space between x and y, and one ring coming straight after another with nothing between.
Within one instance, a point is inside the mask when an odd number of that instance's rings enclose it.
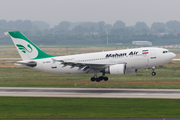
<instances>
[{"instance_id":1,"label":"green and white tail fin with a bird emblem","mask_svg":"<svg viewBox=\"0 0 180 120\"><path fill-rule=\"evenodd\" d=\"M11 31L8 33L23 60L54 57L40 50L34 43L28 40L21 32Z\"/></svg>"}]
</instances>

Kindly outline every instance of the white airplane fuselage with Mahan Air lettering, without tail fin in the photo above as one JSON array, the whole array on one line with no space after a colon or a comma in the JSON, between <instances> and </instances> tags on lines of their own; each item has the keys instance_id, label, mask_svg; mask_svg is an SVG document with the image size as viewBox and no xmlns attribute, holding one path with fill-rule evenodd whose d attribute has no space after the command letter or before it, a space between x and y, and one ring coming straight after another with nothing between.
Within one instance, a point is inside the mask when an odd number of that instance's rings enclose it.
<instances>
[{"instance_id":1,"label":"white airplane fuselage with Mahan Air lettering, without tail fin","mask_svg":"<svg viewBox=\"0 0 180 120\"><path fill-rule=\"evenodd\" d=\"M126 64L128 69L149 68L171 61L176 55L167 49L145 47L136 49L115 50L88 54L77 54L53 57L56 60L65 60L74 63L95 64ZM61 62L53 62L52 58L29 60L37 62L34 69L61 73L61 74L85 74L78 67L65 66Z\"/></svg>"}]
</instances>

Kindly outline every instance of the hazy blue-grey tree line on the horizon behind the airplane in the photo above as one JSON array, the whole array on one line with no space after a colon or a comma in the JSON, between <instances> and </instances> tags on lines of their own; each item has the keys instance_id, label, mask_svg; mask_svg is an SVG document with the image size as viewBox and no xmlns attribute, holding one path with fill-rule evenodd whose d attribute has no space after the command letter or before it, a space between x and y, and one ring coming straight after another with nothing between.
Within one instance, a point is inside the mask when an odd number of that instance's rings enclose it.
<instances>
[{"instance_id":1,"label":"hazy blue-grey tree line on the horizon behind the airplane","mask_svg":"<svg viewBox=\"0 0 180 120\"><path fill-rule=\"evenodd\" d=\"M180 21L145 22L126 26L117 20L113 25L99 22L62 21L54 27L43 21L0 20L0 44L12 44L7 31L21 31L37 45L105 45L109 43L131 44L132 41L151 41L153 45L179 44Z\"/></svg>"}]
</instances>

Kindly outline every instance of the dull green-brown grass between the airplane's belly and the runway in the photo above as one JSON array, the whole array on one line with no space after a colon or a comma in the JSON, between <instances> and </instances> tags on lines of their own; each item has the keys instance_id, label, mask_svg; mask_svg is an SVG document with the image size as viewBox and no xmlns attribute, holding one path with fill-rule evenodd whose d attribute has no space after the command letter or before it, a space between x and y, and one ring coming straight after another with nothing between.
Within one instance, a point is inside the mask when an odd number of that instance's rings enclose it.
<instances>
[{"instance_id":1,"label":"dull green-brown grass between the airplane's belly and the runway","mask_svg":"<svg viewBox=\"0 0 180 120\"><path fill-rule=\"evenodd\" d=\"M76 87L79 88L161 88L180 89L179 69L139 70L137 74L108 75L109 81L91 82L93 74L69 75L41 72L29 68L0 68L0 87ZM99 74L101 75L101 74Z\"/></svg>"}]
</instances>

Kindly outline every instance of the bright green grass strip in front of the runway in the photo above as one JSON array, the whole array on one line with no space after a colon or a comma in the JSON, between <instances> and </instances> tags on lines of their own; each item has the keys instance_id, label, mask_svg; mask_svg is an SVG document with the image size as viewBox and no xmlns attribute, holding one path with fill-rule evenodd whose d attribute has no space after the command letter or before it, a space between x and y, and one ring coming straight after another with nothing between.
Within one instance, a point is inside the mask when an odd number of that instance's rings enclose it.
<instances>
[{"instance_id":1,"label":"bright green grass strip in front of the runway","mask_svg":"<svg viewBox=\"0 0 180 120\"><path fill-rule=\"evenodd\" d=\"M0 97L0 119L174 118L180 100Z\"/></svg>"}]
</instances>

